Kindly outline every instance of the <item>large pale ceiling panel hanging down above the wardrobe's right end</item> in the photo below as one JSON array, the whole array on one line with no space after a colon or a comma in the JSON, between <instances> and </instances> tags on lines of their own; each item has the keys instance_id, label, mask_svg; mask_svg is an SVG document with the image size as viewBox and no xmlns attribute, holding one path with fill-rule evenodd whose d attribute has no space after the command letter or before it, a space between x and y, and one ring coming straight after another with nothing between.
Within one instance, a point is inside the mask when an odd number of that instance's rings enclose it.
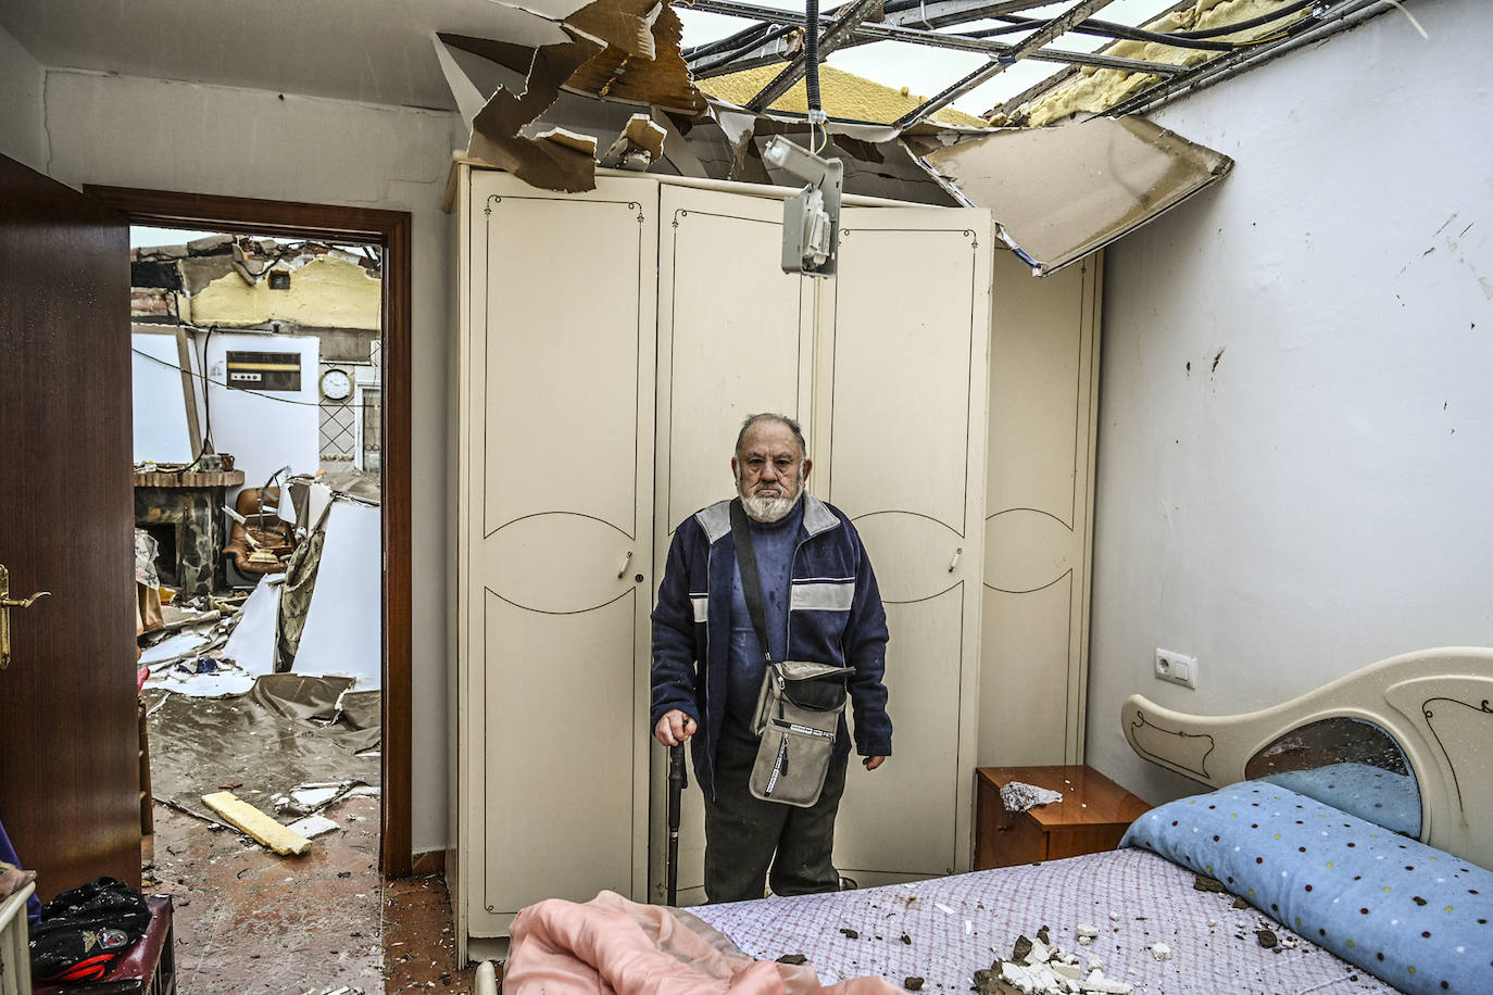
<instances>
[{"instance_id":1,"label":"large pale ceiling panel hanging down above the wardrobe's right end","mask_svg":"<svg viewBox=\"0 0 1493 995\"><path fill-rule=\"evenodd\" d=\"M906 143L967 203L988 207L1039 276L1139 228L1233 167L1227 155L1144 118L1008 128L950 146Z\"/></svg>"}]
</instances>

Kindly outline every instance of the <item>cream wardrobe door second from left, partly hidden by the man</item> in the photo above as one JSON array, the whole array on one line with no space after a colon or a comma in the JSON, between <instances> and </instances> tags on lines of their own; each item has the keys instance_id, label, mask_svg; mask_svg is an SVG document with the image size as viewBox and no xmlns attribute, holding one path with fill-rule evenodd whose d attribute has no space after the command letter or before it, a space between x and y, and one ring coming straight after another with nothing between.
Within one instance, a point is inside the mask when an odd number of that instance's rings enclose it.
<instances>
[{"instance_id":1,"label":"cream wardrobe door second from left, partly hidden by the man","mask_svg":"<svg viewBox=\"0 0 1493 995\"><path fill-rule=\"evenodd\" d=\"M784 273L781 260L781 200L663 186L657 580L679 524L735 494L730 459L742 419L757 412L808 418L818 282ZM667 759L655 744L654 901L666 895ZM679 831L681 905L705 901L705 809L693 768L690 782Z\"/></svg>"}]
</instances>

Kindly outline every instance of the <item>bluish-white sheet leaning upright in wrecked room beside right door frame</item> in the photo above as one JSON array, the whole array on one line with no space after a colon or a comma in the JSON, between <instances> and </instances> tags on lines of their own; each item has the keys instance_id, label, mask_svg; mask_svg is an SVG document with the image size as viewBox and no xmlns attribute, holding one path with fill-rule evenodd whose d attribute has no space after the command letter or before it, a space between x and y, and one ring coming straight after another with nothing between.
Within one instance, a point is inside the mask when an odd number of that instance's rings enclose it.
<instances>
[{"instance_id":1,"label":"bluish-white sheet leaning upright in wrecked room beside right door frame","mask_svg":"<svg viewBox=\"0 0 1493 995\"><path fill-rule=\"evenodd\" d=\"M379 509L348 498L333 501L317 586L296 650L297 674L348 676L355 679L358 691L381 686L382 561Z\"/></svg>"}]
</instances>

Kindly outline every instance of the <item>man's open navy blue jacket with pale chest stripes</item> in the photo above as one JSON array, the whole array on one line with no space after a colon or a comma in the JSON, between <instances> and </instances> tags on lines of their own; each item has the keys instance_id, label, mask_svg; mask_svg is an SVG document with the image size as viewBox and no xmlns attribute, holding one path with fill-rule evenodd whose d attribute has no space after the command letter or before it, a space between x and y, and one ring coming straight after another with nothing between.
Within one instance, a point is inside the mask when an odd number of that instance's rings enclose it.
<instances>
[{"instance_id":1,"label":"man's open navy blue jacket with pale chest stripes","mask_svg":"<svg viewBox=\"0 0 1493 995\"><path fill-rule=\"evenodd\" d=\"M715 752L726 719L726 667L730 656L732 500L718 501L679 525L652 613L652 713L649 729L670 709L696 721L690 740L694 774L715 797ZM891 755L887 716L887 613L876 574L854 525L838 507L803 495L803 522L793 553L788 597L788 659L854 667L850 701L855 749L861 756ZM712 638L712 634L715 638ZM705 749L700 749L703 740ZM850 752L845 719L836 756Z\"/></svg>"}]
</instances>

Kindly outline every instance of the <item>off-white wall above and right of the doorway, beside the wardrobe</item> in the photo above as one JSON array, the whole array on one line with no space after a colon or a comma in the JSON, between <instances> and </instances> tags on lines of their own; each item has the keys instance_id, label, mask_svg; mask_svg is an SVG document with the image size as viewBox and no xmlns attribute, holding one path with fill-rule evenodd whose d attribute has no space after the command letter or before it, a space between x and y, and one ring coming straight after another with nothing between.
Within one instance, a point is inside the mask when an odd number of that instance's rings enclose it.
<instances>
[{"instance_id":1,"label":"off-white wall above and right of the doorway, beside the wardrobe","mask_svg":"<svg viewBox=\"0 0 1493 995\"><path fill-rule=\"evenodd\" d=\"M3 43L3 40L0 40ZM3 55L0 55L3 61ZM454 115L46 70L46 172L106 183L414 215L414 849L446 844L445 436ZM7 94L9 95L9 94Z\"/></svg>"}]
</instances>

